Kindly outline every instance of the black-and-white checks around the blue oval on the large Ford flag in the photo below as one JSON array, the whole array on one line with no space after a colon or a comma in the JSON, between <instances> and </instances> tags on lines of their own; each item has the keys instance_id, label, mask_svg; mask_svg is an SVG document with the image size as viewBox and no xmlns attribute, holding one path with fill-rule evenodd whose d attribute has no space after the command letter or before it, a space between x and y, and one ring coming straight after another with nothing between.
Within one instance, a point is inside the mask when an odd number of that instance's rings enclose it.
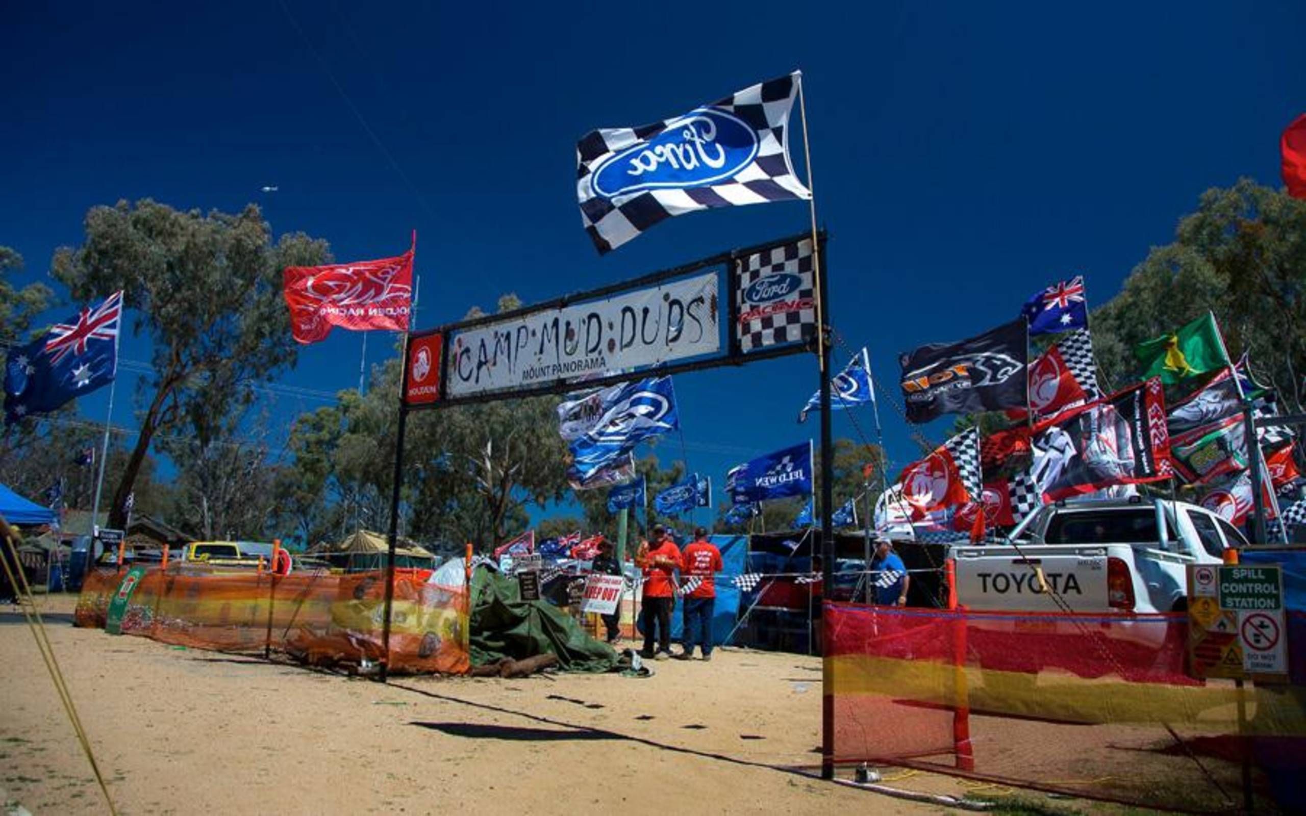
<instances>
[{"instance_id":1,"label":"black-and-white checks around the blue oval on the large Ford flag","mask_svg":"<svg viewBox=\"0 0 1306 816\"><path fill-rule=\"evenodd\" d=\"M687 181L684 187L640 189L609 197L596 189L594 176L616 153L637 148L641 142L648 144L677 128L684 127L686 133L690 133L695 127L691 116L704 108L641 128L609 128L590 131L582 136L576 144L579 166L576 193L585 231L589 232L599 255L611 252L673 215L717 206L811 198L811 193L794 175L785 138L789 132L789 111L794 106L802 74L794 72L778 80L746 87L707 106L708 110L729 114L752 128L757 137L757 153L748 165L731 175L704 180L699 185ZM705 136L708 133L699 133L699 138ZM710 148L714 142L707 140L707 145ZM652 148L650 153L658 149L665 150L658 145ZM675 154L674 146L658 155L673 154ZM670 163L667 158L662 161Z\"/></svg>"}]
</instances>

